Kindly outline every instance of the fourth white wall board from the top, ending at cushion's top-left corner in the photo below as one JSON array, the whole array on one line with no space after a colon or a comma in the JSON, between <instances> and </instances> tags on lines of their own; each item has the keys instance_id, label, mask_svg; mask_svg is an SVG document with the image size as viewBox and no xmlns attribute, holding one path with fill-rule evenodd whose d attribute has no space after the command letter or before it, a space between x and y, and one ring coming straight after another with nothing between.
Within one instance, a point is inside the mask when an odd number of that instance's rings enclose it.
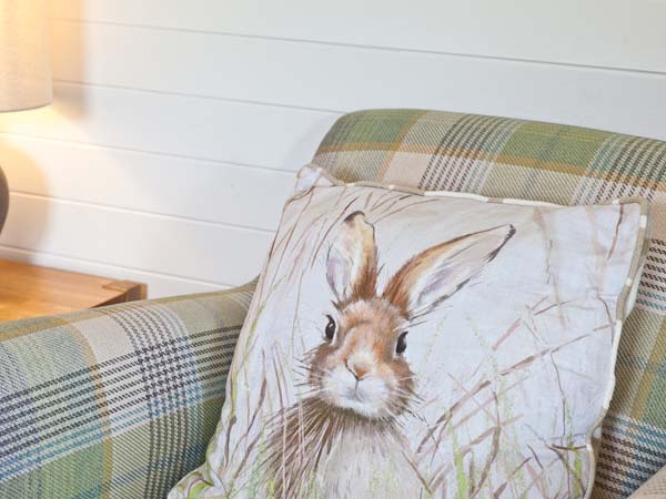
<instances>
[{"instance_id":1,"label":"fourth white wall board from the top, ending at cushion's top-left corner","mask_svg":"<svg viewBox=\"0 0 666 499\"><path fill-rule=\"evenodd\" d=\"M13 191L223 224L278 228L294 174L0 135Z\"/></svg>"}]
</instances>

